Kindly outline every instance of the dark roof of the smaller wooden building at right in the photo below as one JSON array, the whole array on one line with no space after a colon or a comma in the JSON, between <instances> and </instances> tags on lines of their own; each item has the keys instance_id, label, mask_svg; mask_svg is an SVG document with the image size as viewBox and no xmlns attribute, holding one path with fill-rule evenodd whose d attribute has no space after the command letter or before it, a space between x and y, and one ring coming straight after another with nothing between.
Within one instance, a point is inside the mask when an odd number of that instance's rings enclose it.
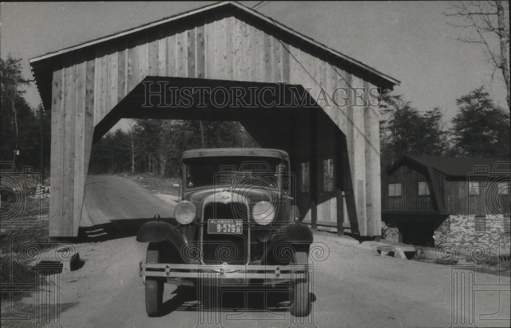
<instances>
[{"instance_id":1,"label":"dark roof of the smaller wooden building at right","mask_svg":"<svg viewBox=\"0 0 511 328\"><path fill-rule=\"evenodd\" d=\"M444 173L446 176L452 177L467 176L470 173L475 173L474 168L476 166L487 167L488 172L497 174L509 174L511 172L511 162L499 158L424 155L405 155L390 166L386 172L390 172L392 169L400 166L404 160L412 160L426 168L433 168Z\"/></svg>"}]
</instances>

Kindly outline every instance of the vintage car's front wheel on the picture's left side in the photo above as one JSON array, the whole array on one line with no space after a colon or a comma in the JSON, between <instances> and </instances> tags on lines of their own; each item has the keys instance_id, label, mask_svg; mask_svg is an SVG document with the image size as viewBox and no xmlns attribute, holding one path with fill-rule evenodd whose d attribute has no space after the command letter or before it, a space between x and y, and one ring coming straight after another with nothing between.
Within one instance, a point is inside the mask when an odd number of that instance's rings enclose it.
<instances>
[{"instance_id":1,"label":"vintage car's front wheel on the picture's left side","mask_svg":"<svg viewBox=\"0 0 511 328\"><path fill-rule=\"evenodd\" d=\"M160 250L154 244L147 247L147 263L159 263ZM163 301L164 282L159 277L146 276L146 312L150 317L159 315Z\"/></svg>"}]
</instances>

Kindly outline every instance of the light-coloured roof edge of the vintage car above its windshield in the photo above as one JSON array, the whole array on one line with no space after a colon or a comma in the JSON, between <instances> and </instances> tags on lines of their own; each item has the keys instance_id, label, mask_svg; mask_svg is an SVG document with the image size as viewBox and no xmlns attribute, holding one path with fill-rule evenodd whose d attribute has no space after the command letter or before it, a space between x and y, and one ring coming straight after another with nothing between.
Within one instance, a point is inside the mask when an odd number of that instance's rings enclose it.
<instances>
[{"instance_id":1,"label":"light-coloured roof edge of the vintage car above its windshield","mask_svg":"<svg viewBox=\"0 0 511 328\"><path fill-rule=\"evenodd\" d=\"M274 157L289 161L287 152L280 149L270 148L209 148L192 149L184 151L182 159L196 157L217 157L217 156L254 156L254 157Z\"/></svg>"}]
</instances>

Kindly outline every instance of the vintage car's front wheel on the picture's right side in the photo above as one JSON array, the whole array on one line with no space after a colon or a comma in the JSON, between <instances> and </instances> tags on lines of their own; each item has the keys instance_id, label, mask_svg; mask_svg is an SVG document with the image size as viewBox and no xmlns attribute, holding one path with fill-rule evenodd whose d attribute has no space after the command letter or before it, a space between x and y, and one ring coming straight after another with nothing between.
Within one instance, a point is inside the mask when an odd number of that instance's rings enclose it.
<instances>
[{"instance_id":1,"label":"vintage car's front wheel on the picture's right side","mask_svg":"<svg viewBox=\"0 0 511 328\"><path fill-rule=\"evenodd\" d=\"M295 253L295 264L308 264L307 252ZM306 317L311 313L311 298L309 296L309 279L305 272L305 279L293 282L291 290L291 315Z\"/></svg>"}]
</instances>

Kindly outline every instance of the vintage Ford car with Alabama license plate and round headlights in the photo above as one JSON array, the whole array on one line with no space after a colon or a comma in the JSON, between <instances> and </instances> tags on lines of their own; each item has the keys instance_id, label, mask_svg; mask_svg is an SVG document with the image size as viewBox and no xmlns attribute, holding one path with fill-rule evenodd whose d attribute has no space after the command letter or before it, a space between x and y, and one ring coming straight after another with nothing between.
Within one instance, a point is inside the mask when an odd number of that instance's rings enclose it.
<instances>
[{"instance_id":1,"label":"vintage Ford car with Alabama license plate and round headlights","mask_svg":"<svg viewBox=\"0 0 511 328\"><path fill-rule=\"evenodd\" d=\"M294 177L282 150L198 149L182 154L183 189L174 219L144 224L140 275L146 311L158 316L164 283L197 287L207 308L226 286L288 286L290 311L311 311L312 231L292 205Z\"/></svg>"}]
</instances>

